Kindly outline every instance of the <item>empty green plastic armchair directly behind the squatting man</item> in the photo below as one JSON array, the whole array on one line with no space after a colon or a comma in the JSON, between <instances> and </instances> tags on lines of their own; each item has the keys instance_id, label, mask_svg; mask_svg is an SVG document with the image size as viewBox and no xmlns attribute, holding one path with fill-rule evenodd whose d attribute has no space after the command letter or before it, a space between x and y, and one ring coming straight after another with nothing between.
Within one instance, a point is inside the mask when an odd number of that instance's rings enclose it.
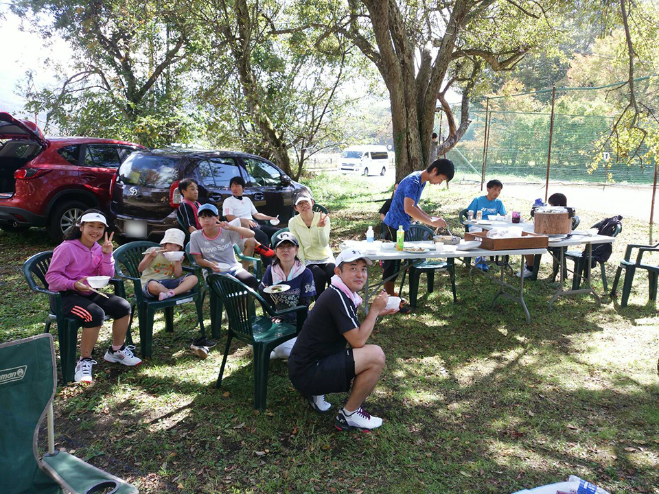
<instances>
[{"instance_id":1,"label":"empty green plastic armchair directly behind the squatting man","mask_svg":"<svg viewBox=\"0 0 659 494\"><path fill-rule=\"evenodd\" d=\"M207 281L211 290L211 304L221 301L229 318L227 346L224 347L224 357L222 357L216 388L222 384L222 374L224 374L224 365L227 364L231 340L236 338L251 344L254 358L254 408L265 410L270 352L279 344L297 336L307 318L307 307L299 305L275 311L262 296L229 274L209 274ZM256 302L261 304L263 316L255 315ZM295 325L271 320L273 317L292 312L297 313ZM215 314L222 313L216 311Z\"/></svg>"}]
</instances>

